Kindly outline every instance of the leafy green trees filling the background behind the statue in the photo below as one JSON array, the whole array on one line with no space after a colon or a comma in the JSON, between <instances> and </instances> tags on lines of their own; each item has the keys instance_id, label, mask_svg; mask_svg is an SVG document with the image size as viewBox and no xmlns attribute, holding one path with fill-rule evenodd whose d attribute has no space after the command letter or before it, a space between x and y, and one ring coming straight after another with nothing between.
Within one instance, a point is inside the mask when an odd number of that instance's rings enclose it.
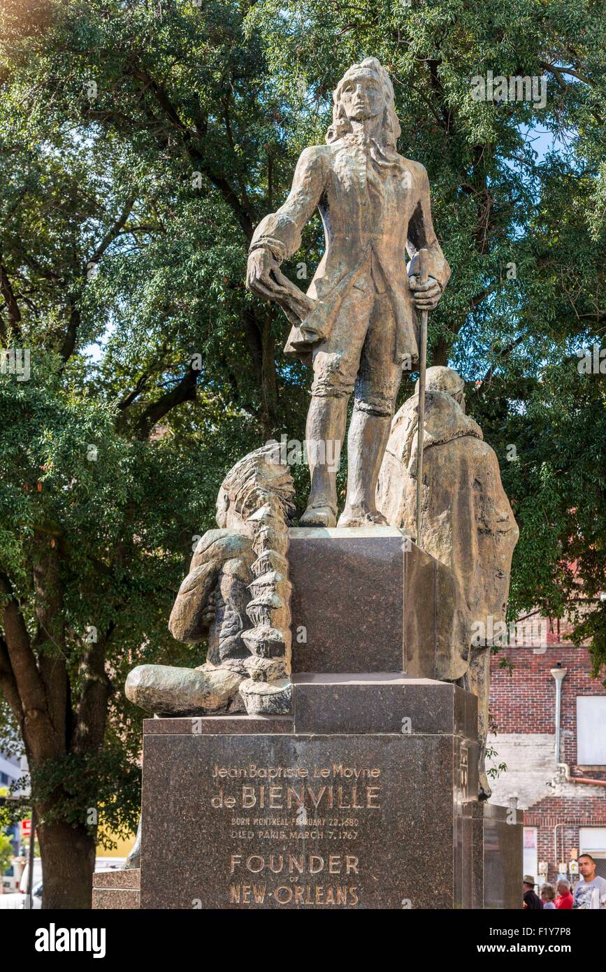
<instances>
[{"instance_id":1,"label":"leafy green trees filling the background behind the statue","mask_svg":"<svg viewBox=\"0 0 606 972\"><path fill-rule=\"evenodd\" d=\"M575 350L603 335L603 7L4 0L0 687L45 907L89 906L99 815L135 821L127 671L201 660L166 623L222 474L270 436L303 437L308 378L282 355L280 312L245 290L247 249L366 54L430 175L454 268L432 361L461 368L503 460L514 604L563 611L579 582L598 597L604 385ZM546 79L545 108L475 101L488 69ZM568 140L540 162L537 124ZM321 248L316 219L286 272L311 278Z\"/></svg>"}]
</instances>

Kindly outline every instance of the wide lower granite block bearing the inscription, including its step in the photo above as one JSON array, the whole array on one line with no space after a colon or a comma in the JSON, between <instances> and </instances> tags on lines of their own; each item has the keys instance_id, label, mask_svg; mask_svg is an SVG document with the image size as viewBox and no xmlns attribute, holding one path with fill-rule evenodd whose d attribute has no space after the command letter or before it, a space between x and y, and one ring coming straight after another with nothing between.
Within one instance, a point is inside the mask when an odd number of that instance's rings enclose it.
<instances>
[{"instance_id":1,"label":"wide lower granite block bearing the inscription, including its step","mask_svg":"<svg viewBox=\"0 0 606 972\"><path fill-rule=\"evenodd\" d=\"M228 732L212 716L146 720L142 907L471 907L466 695L428 679L297 677L278 731L247 716Z\"/></svg>"}]
</instances>

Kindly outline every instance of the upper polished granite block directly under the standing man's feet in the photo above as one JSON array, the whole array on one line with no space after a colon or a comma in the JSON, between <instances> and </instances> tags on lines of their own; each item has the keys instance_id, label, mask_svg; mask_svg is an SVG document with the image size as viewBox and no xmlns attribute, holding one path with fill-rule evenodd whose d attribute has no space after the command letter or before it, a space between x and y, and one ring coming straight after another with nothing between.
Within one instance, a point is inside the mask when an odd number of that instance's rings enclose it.
<instances>
[{"instance_id":1,"label":"upper polished granite block directly under the standing man's feet","mask_svg":"<svg viewBox=\"0 0 606 972\"><path fill-rule=\"evenodd\" d=\"M288 535L293 672L435 677L432 557L393 527Z\"/></svg>"}]
</instances>

